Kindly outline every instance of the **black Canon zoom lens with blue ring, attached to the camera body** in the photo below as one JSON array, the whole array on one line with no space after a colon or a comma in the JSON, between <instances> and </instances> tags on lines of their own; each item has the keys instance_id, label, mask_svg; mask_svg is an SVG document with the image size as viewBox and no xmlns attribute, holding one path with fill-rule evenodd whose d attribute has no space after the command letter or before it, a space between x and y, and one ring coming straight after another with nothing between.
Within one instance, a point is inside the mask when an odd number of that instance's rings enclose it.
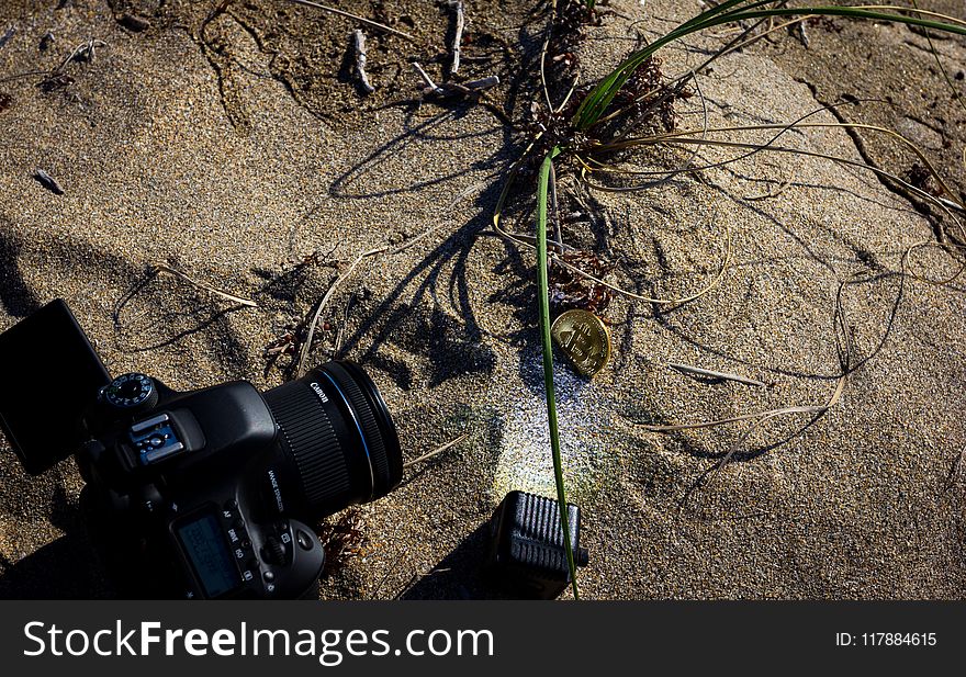
<instances>
[{"instance_id":1,"label":"black Canon zoom lens with blue ring, attached to the camera body","mask_svg":"<svg viewBox=\"0 0 966 677\"><path fill-rule=\"evenodd\" d=\"M273 467L280 509L294 500L311 519L319 518L398 485L403 458L395 425L358 364L327 362L262 397L279 427Z\"/></svg>"}]
</instances>

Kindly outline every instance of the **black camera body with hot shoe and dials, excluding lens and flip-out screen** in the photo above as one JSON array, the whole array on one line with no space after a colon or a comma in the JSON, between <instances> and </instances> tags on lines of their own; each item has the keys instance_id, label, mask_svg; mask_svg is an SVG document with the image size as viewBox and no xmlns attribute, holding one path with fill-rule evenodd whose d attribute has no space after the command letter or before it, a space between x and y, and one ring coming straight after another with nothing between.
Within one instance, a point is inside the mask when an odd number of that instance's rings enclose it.
<instances>
[{"instance_id":1,"label":"black camera body with hot shoe and dials, excluding lens and flip-out screen","mask_svg":"<svg viewBox=\"0 0 966 677\"><path fill-rule=\"evenodd\" d=\"M88 522L122 589L187 598L312 593L323 549L289 517L270 453L277 426L254 386L176 393L125 374L101 388L94 409L94 440L77 463Z\"/></svg>"}]
</instances>

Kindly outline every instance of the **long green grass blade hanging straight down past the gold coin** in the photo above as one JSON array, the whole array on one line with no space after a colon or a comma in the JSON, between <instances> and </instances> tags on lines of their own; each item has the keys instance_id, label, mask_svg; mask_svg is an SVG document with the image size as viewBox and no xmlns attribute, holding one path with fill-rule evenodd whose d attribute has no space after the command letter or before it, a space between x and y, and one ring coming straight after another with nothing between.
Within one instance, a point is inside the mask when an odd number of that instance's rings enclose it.
<instances>
[{"instance_id":1,"label":"long green grass blade hanging straight down past the gold coin","mask_svg":"<svg viewBox=\"0 0 966 677\"><path fill-rule=\"evenodd\" d=\"M560 506L560 526L563 529L563 548L566 551L566 567L570 572L574 599L577 594L576 568L573 546L570 542L570 520L566 515L566 490L563 483L563 464L560 459L560 430L557 425L557 394L553 388L553 346L550 342L550 289L547 273L547 192L550 184L550 167L560 148L553 149L543 158L537 178L537 296L540 311L540 342L543 347L543 383L547 391L547 418L550 424L550 449L553 454L553 477L557 481L557 503Z\"/></svg>"}]
</instances>

